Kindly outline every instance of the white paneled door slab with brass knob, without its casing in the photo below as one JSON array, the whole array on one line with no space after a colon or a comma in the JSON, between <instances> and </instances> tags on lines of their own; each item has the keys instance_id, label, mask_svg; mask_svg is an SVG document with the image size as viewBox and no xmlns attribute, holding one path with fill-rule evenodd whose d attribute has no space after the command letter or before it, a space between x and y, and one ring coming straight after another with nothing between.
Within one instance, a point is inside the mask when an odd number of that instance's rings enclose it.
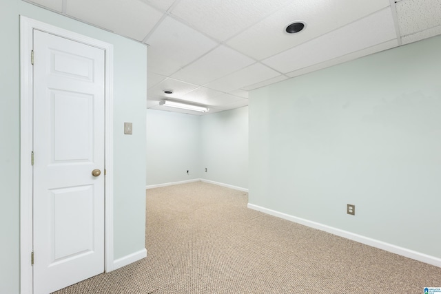
<instances>
[{"instance_id":1,"label":"white paneled door slab with brass knob, without its casing","mask_svg":"<svg viewBox=\"0 0 441 294\"><path fill-rule=\"evenodd\" d=\"M39 294L104 271L103 50L34 30L33 149Z\"/></svg>"}]
</instances>

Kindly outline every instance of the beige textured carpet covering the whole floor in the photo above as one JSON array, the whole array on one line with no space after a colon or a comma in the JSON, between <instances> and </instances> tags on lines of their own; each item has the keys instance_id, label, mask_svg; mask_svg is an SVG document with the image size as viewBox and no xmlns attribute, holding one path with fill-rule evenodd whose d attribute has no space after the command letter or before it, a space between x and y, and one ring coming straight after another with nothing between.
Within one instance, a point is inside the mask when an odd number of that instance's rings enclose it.
<instances>
[{"instance_id":1,"label":"beige textured carpet covering the whole floor","mask_svg":"<svg viewBox=\"0 0 441 294\"><path fill-rule=\"evenodd\" d=\"M441 286L441 268L247 209L245 192L192 182L146 196L147 258L57 294L417 294Z\"/></svg>"}]
</instances>

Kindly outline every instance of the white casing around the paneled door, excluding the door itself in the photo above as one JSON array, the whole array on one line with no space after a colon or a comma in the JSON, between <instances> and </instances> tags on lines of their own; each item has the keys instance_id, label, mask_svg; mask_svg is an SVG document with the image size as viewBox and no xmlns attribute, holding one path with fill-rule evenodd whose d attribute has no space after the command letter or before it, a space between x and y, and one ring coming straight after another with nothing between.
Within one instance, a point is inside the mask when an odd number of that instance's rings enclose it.
<instances>
[{"instance_id":1,"label":"white casing around the paneled door, excluding the door itself","mask_svg":"<svg viewBox=\"0 0 441 294\"><path fill-rule=\"evenodd\" d=\"M20 293L33 293L32 241L32 129L33 30L41 30L91 45L105 53L105 149L104 149L104 270L113 270L113 45L48 23L20 16Z\"/></svg>"}]
</instances>

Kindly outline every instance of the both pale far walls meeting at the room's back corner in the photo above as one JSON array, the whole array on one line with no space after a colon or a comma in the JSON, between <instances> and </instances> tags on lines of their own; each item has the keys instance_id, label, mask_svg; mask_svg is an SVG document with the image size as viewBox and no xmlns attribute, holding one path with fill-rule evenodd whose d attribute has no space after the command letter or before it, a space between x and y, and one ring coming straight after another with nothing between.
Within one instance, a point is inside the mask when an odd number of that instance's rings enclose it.
<instances>
[{"instance_id":1,"label":"both pale far walls meeting at the room's back corner","mask_svg":"<svg viewBox=\"0 0 441 294\"><path fill-rule=\"evenodd\" d=\"M147 109L147 185L199 178L247 189L248 107L204 116Z\"/></svg>"}]
</instances>

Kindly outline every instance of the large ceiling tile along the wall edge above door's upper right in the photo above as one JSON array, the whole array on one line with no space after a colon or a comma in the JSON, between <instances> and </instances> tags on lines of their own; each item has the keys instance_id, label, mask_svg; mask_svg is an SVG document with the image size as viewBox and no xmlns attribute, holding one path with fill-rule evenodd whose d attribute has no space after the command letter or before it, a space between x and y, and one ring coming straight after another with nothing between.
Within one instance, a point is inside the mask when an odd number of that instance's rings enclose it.
<instances>
[{"instance_id":1,"label":"large ceiling tile along the wall edge above door's upper right","mask_svg":"<svg viewBox=\"0 0 441 294\"><path fill-rule=\"evenodd\" d=\"M163 14L140 0L67 0L66 14L143 41Z\"/></svg>"}]
</instances>

